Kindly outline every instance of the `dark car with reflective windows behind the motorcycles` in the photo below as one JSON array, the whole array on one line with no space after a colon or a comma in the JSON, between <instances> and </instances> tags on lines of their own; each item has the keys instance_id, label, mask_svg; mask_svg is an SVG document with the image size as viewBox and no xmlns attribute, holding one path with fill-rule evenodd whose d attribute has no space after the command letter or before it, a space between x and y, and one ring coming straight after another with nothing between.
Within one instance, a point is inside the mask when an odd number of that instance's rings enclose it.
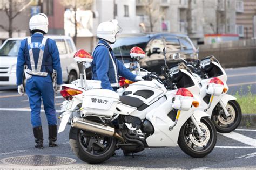
<instances>
[{"instance_id":1,"label":"dark car with reflective windows behind the motorcycles","mask_svg":"<svg viewBox=\"0 0 256 170\"><path fill-rule=\"evenodd\" d=\"M188 36L180 34L129 34L120 36L113 44L114 55L124 61L126 67L132 62L130 49L134 46L142 48L146 56L140 60L140 67L150 72L160 73L160 67L164 66L163 48L167 51L167 64L174 65L181 60L172 60L171 54L180 53L181 58L187 61L196 59L196 47Z\"/></svg>"}]
</instances>

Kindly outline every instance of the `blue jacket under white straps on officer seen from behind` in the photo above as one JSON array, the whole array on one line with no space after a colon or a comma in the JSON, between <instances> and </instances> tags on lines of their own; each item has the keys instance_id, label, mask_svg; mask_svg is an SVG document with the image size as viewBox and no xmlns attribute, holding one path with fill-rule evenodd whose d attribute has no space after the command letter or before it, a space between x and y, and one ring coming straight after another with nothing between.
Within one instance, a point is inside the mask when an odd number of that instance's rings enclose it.
<instances>
[{"instance_id":1,"label":"blue jacket under white straps on officer seen from behind","mask_svg":"<svg viewBox=\"0 0 256 170\"><path fill-rule=\"evenodd\" d=\"M35 33L31 36L31 42L42 42L42 39L43 39L42 34ZM33 51L33 57L35 60L35 65L37 66L40 49L33 48L32 51ZM17 85L22 84L24 65L27 65L29 69L31 69L27 39L24 39L21 41L21 47L19 48L19 52L18 52L17 70L16 70ZM49 74L51 74L52 69L55 69L57 72L57 84L59 85L62 84L62 69L61 69L60 59L59 59L59 51L58 51L56 42L48 38L44 47L44 55L43 55L43 62L41 66L41 72L48 72Z\"/></svg>"}]
</instances>

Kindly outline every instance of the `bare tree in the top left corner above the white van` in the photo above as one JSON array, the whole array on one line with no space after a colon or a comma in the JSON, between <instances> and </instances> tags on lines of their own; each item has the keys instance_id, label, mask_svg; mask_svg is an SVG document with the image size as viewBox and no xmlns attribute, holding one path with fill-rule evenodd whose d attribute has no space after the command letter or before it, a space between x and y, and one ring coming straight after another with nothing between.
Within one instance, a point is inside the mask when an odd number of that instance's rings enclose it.
<instances>
[{"instance_id":1,"label":"bare tree in the top left corner above the white van","mask_svg":"<svg viewBox=\"0 0 256 170\"><path fill-rule=\"evenodd\" d=\"M8 17L9 24L8 27L5 25L0 25L0 27L9 32L9 38L12 37L12 33L14 32L14 18L17 17L23 10L25 10L33 0L9 0L3 1L3 8L0 9L6 13Z\"/></svg>"}]
</instances>

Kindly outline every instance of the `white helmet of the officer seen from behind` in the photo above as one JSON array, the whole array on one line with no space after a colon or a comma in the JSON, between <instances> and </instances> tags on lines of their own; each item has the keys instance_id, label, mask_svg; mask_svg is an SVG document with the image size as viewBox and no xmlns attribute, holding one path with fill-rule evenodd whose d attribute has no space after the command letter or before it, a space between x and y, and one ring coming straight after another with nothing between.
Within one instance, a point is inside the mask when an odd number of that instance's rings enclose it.
<instances>
[{"instance_id":1,"label":"white helmet of the officer seen from behind","mask_svg":"<svg viewBox=\"0 0 256 170\"><path fill-rule=\"evenodd\" d=\"M29 29L32 33L35 31L43 31L43 33L48 32L48 18L44 13L38 13L34 15L29 20Z\"/></svg>"}]
</instances>

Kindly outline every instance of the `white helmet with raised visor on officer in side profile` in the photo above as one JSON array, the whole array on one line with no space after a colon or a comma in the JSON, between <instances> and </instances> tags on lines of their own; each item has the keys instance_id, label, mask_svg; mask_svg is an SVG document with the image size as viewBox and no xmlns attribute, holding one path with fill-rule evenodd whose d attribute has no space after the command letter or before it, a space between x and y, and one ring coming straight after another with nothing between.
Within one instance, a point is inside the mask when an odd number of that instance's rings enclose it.
<instances>
[{"instance_id":1,"label":"white helmet with raised visor on officer in side profile","mask_svg":"<svg viewBox=\"0 0 256 170\"><path fill-rule=\"evenodd\" d=\"M113 19L99 24L97 28L97 37L113 44L116 42L117 33L121 31L122 29L118 25L118 21Z\"/></svg>"}]
</instances>

